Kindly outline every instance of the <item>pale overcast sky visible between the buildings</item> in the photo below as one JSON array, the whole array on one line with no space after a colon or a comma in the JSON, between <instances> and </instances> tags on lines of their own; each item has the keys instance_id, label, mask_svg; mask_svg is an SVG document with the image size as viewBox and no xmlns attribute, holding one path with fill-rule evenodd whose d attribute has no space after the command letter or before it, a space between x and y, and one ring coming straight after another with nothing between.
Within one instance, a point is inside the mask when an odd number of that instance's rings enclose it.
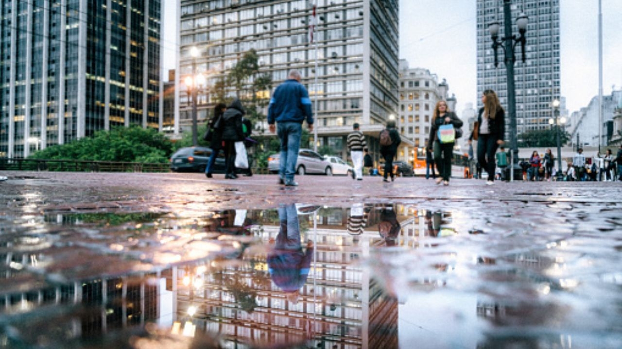
<instances>
[{"instance_id":1,"label":"pale overcast sky visible between the buildings","mask_svg":"<svg viewBox=\"0 0 622 349\"><path fill-rule=\"evenodd\" d=\"M614 84L622 88L622 0L601 1L606 96ZM164 71L175 68L176 4L165 1ZM458 115L467 102L476 105L476 1L400 0L399 6L399 58L447 79ZM598 96L598 0L560 0L560 11L561 93L573 112Z\"/></svg>"}]
</instances>

